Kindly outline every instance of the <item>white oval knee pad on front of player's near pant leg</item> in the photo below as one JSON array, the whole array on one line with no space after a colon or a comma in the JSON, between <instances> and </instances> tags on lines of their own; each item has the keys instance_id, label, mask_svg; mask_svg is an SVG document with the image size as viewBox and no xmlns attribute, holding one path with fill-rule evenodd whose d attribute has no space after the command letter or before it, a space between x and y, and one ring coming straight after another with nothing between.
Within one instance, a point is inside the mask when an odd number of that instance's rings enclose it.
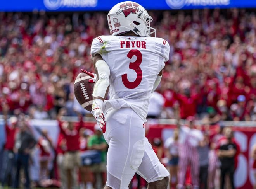
<instances>
[{"instance_id":1,"label":"white oval knee pad on front of player's near pant leg","mask_svg":"<svg viewBox=\"0 0 256 189\"><path fill-rule=\"evenodd\" d=\"M142 162L142 158L144 156L145 152L145 143L144 139L137 141L133 145L133 149L131 152L131 158L130 158L130 166L132 169L137 170L140 166L140 163Z\"/></svg>"}]
</instances>

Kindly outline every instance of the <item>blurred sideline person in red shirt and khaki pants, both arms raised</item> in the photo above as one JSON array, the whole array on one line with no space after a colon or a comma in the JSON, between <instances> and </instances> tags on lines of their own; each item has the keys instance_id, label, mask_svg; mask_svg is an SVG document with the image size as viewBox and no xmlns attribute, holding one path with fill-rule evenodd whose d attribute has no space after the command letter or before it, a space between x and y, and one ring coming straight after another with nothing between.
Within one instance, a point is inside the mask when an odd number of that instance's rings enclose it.
<instances>
[{"instance_id":1,"label":"blurred sideline person in red shirt and khaki pants, both arms raised","mask_svg":"<svg viewBox=\"0 0 256 189\"><path fill-rule=\"evenodd\" d=\"M67 172L67 189L71 189L77 186L77 179L73 177L73 171L81 165L79 131L83 126L83 117L80 116L80 123L78 126L74 126L73 122L61 123L60 120L64 114L66 114L66 109L60 109L57 119L59 121L60 132L66 139L67 150L64 153L63 167Z\"/></svg>"}]
</instances>

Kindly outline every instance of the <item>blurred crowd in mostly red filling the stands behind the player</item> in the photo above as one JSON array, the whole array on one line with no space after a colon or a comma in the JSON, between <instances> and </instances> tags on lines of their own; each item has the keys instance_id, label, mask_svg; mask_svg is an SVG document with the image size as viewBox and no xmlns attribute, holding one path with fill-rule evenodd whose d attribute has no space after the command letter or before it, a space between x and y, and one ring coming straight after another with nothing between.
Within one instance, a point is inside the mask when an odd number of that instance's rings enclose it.
<instances>
[{"instance_id":1,"label":"blurred crowd in mostly red filling the stands behind the player","mask_svg":"<svg viewBox=\"0 0 256 189\"><path fill-rule=\"evenodd\" d=\"M245 9L149 12L170 60L152 117L256 121L256 15ZM108 35L105 13L0 13L0 112L56 119L83 112L73 81L93 72L90 44ZM152 107L152 106L151 106ZM149 109L150 111L150 109Z\"/></svg>"}]
</instances>

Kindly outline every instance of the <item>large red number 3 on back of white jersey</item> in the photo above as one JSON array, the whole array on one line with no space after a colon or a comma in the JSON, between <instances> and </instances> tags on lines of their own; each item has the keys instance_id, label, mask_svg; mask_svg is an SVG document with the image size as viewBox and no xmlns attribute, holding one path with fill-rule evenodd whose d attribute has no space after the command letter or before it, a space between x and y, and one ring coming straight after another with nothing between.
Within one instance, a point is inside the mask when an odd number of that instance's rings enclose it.
<instances>
[{"instance_id":1,"label":"large red number 3 on back of white jersey","mask_svg":"<svg viewBox=\"0 0 256 189\"><path fill-rule=\"evenodd\" d=\"M133 82L130 82L127 78L127 73L122 75L122 82L128 89L134 89L138 87L142 80L142 70L140 69L140 64L142 62L142 54L139 50L130 50L129 53L127 54L127 57L131 59L133 56L136 56L136 60L134 62L130 62L129 69L132 69L137 73L136 79Z\"/></svg>"}]
</instances>

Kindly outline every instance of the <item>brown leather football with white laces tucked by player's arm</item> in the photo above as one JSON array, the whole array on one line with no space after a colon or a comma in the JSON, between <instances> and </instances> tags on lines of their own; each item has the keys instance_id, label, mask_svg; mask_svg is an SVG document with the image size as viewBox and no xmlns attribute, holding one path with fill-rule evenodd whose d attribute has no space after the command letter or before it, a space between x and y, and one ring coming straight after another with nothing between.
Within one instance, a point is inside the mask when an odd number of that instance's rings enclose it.
<instances>
[{"instance_id":1,"label":"brown leather football with white laces tucked by player's arm","mask_svg":"<svg viewBox=\"0 0 256 189\"><path fill-rule=\"evenodd\" d=\"M92 77L86 73L79 73L74 82L74 94L76 100L87 111L92 111L92 91L94 83L88 80Z\"/></svg>"}]
</instances>

